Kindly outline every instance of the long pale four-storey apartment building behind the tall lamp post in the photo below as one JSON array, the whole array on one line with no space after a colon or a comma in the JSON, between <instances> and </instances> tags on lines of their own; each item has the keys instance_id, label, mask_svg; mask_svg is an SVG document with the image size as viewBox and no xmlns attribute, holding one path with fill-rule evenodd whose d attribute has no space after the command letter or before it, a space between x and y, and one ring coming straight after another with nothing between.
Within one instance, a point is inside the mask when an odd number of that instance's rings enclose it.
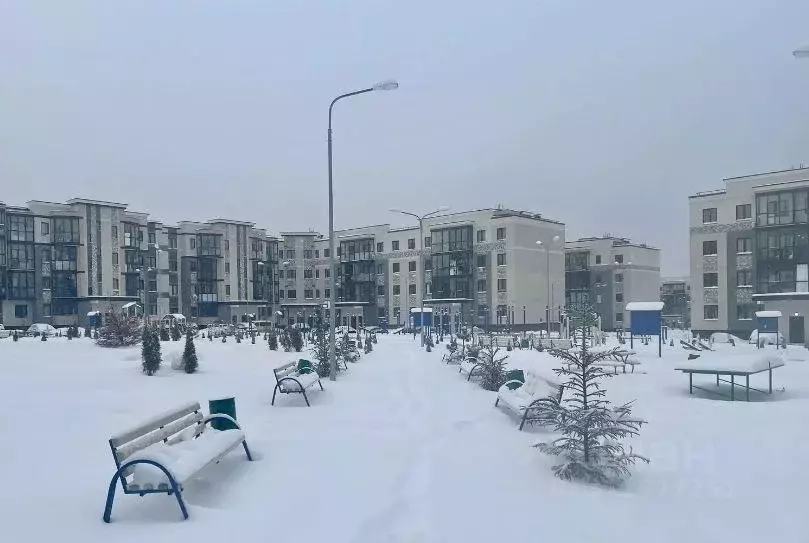
<instances>
[{"instance_id":1,"label":"long pale four-storey apartment building behind the tall lamp post","mask_svg":"<svg viewBox=\"0 0 809 543\"><path fill-rule=\"evenodd\" d=\"M338 324L411 322L422 301L435 320L511 326L545 322L551 296L564 295L564 224L535 213L484 209L438 215L418 226L376 225L335 232ZM284 321L313 322L331 294L329 240L282 232L280 305ZM537 241L558 248L548 253ZM546 261L549 258L549 261Z\"/></svg>"}]
</instances>

